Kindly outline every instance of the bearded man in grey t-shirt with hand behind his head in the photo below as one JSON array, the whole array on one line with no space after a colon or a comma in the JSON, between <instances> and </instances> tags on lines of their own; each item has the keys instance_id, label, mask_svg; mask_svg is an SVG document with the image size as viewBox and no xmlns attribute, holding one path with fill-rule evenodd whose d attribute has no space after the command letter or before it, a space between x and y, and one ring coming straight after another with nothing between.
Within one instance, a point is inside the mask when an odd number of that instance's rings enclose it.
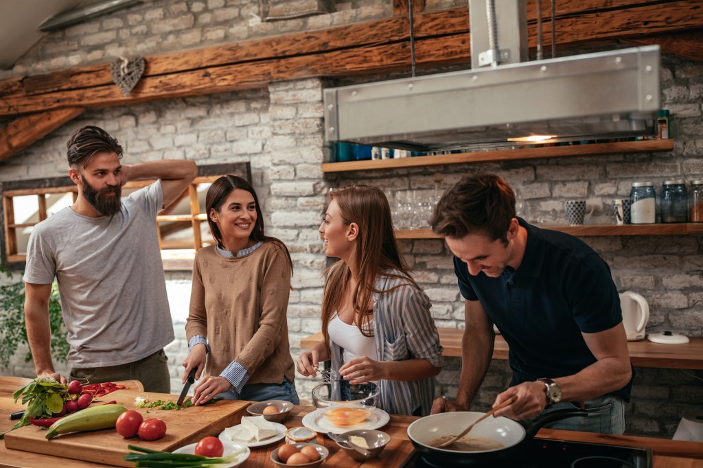
<instances>
[{"instance_id":1,"label":"bearded man in grey t-shirt with hand behind his head","mask_svg":"<svg viewBox=\"0 0 703 468\"><path fill-rule=\"evenodd\" d=\"M97 126L67 142L76 201L41 221L27 246L25 321L37 376L53 368L49 296L56 278L70 344L70 377L83 382L138 379L170 392L164 346L174 339L156 214L198 173L188 160L120 163L122 146ZM128 181L157 178L122 198Z\"/></svg>"}]
</instances>

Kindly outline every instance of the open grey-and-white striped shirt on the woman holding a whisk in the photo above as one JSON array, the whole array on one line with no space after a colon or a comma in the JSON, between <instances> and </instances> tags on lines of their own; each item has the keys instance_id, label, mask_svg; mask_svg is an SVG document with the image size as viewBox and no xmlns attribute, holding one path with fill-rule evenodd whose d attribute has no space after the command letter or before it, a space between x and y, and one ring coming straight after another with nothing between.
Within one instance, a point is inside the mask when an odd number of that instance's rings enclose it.
<instances>
[{"instance_id":1,"label":"open grey-and-white striped shirt on the woman holding a whisk","mask_svg":"<svg viewBox=\"0 0 703 468\"><path fill-rule=\"evenodd\" d=\"M398 271L393 273L401 274ZM392 287L401 285L394 291ZM442 365L442 346L437 327L432 320L432 304L427 295L401 278L378 276L373 293L373 336L376 360L406 360L421 358L435 367ZM343 349L330 342L331 370L339 373ZM372 356L368 356L372 357ZM434 399L434 377L413 381L379 380L379 408L397 414L429 415Z\"/></svg>"}]
</instances>

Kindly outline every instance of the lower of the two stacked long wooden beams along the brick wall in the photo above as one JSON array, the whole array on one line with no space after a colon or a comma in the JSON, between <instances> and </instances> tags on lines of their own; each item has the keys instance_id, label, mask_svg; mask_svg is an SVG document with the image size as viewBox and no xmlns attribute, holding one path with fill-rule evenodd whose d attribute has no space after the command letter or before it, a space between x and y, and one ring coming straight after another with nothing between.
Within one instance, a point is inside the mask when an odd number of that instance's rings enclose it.
<instances>
[{"instance_id":1,"label":"lower of the two stacked long wooden beams along the brick wall","mask_svg":"<svg viewBox=\"0 0 703 468\"><path fill-rule=\"evenodd\" d=\"M703 15L698 1L682 0L667 4L665 12L659 5L645 5L624 10L596 11L567 16L557 21L557 42L560 44L578 44L591 40L628 39L638 35L646 28L652 32L668 32L675 28L703 27ZM426 17L423 27L434 31L434 37L418 37L416 41L416 58L418 66L434 67L448 63L468 63L469 36L466 34L465 19L461 19L464 30L456 34L437 35L441 30L431 23L441 17ZM449 20L457 21L454 16ZM406 23L405 18L393 20L398 25ZM451 21L449 21L451 22ZM367 23L367 26L371 23ZM373 22L375 25L385 22ZM433 27L434 26L434 27ZM378 39L376 45L363 47L337 48L300 55L288 55L282 58L266 60L244 60L228 65L209 66L188 70L181 66L182 72L158 74L145 77L136 86L130 96L122 96L116 86L78 87L27 96L15 93L0 98L0 116L39 112L46 109L76 107L105 108L115 105L141 103L148 100L197 96L209 93L221 93L238 89L266 86L269 82L283 79L302 79L305 77L347 76L350 74L409 70L410 52L406 41L382 41L381 37L399 35L406 32L370 32L366 40ZM455 28L456 29L456 28ZM339 32L335 29L335 34ZM313 34L313 33L306 33ZM320 37L318 36L318 39ZM529 43L536 44L536 32L531 28ZM259 51L259 54L262 53ZM186 62L191 56L188 54ZM178 66L178 65L176 65Z\"/></svg>"}]
</instances>

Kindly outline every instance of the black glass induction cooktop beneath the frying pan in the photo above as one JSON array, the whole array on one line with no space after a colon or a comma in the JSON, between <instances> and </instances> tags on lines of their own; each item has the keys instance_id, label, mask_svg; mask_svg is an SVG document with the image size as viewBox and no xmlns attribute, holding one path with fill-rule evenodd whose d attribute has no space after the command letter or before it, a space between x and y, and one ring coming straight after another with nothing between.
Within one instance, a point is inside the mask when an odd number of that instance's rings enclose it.
<instances>
[{"instance_id":1,"label":"black glass induction cooktop beneath the frying pan","mask_svg":"<svg viewBox=\"0 0 703 468\"><path fill-rule=\"evenodd\" d=\"M467 455L470 457L470 455ZM609 446L600 443L558 441L534 438L515 454L510 464L466 466L501 466L515 468L652 468L652 450L648 448ZM447 468L447 464L432 464L413 453L404 468ZM457 464L456 466L460 466Z\"/></svg>"}]
</instances>

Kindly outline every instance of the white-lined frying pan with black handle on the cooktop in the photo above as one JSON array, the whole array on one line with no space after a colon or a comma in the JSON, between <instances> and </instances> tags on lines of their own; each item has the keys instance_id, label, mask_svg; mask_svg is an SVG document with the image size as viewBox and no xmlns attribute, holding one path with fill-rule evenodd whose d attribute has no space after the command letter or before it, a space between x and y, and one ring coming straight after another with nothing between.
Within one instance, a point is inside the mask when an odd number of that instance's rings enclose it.
<instances>
[{"instance_id":1,"label":"white-lined frying pan with black handle on the cooktop","mask_svg":"<svg viewBox=\"0 0 703 468\"><path fill-rule=\"evenodd\" d=\"M501 448L458 452L430 445L442 436L459 434L466 425L484 415L482 412L457 411L443 412L415 420L408 426L408 438L418 450L420 456L430 464L439 467L473 467L507 462L517 456L525 441L529 441L545 424L564 420L567 417L585 417L588 412L567 408L555 410L536 417L531 423L516 422L507 417L489 417L476 424L471 430L471 437L488 438L501 443ZM507 465L506 465L507 466Z\"/></svg>"}]
</instances>

